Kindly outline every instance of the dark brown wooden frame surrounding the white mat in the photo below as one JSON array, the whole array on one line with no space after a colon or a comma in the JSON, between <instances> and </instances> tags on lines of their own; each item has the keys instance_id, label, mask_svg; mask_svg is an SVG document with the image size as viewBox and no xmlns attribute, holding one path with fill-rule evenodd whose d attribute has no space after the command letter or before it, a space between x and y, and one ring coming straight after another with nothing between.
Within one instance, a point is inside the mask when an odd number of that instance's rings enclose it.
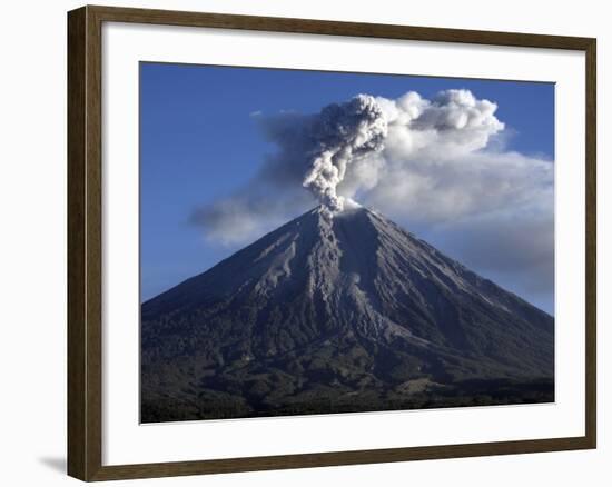
<instances>
[{"instance_id":1,"label":"dark brown wooden frame surrounding the white mat","mask_svg":"<svg viewBox=\"0 0 612 487\"><path fill-rule=\"evenodd\" d=\"M374 450L102 465L102 23L154 23L289 33L576 50L585 53L585 435ZM305 19L83 7L68 13L68 474L82 480L165 477L595 448L595 88L591 38Z\"/></svg>"}]
</instances>

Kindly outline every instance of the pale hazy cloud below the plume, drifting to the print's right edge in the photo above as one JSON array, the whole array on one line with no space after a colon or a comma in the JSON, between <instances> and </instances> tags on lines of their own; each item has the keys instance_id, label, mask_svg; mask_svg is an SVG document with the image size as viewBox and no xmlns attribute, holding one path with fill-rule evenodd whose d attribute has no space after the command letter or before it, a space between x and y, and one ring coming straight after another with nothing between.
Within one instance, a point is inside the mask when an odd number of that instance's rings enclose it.
<instances>
[{"instance_id":1,"label":"pale hazy cloud below the plume, drifting to the print's right edge","mask_svg":"<svg viewBox=\"0 0 612 487\"><path fill-rule=\"evenodd\" d=\"M357 163L339 192L389 217L431 225L507 208L516 213L544 208L552 213L554 168L550 161L517 152L385 160L385 165L381 158ZM377 183L368 186L364 177Z\"/></svg>"}]
</instances>

